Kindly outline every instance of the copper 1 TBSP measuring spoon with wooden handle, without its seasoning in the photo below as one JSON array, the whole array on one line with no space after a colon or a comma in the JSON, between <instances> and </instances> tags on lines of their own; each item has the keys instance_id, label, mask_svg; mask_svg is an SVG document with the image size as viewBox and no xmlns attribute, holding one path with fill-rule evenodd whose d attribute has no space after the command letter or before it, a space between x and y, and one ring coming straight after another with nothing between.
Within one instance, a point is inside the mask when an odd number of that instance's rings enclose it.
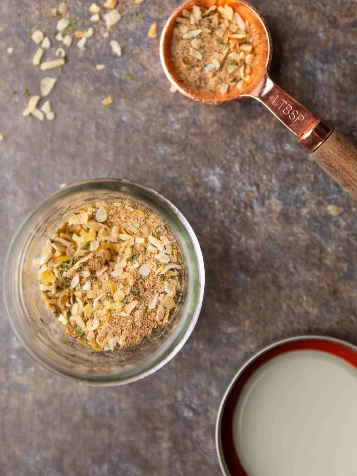
<instances>
[{"instance_id":1,"label":"copper 1 TBSP measuring spoon with wooden handle, without its seasoning","mask_svg":"<svg viewBox=\"0 0 357 476\"><path fill-rule=\"evenodd\" d=\"M176 18L182 10L192 10L193 5L209 8L226 5L249 22L254 41L255 62L245 89L232 89L215 93L193 89L179 81L171 60L170 42ZM279 88L269 77L272 58L272 40L268 25L252 5L245 0L187 0L169 17L160 39L160 60L169 81L185 96L205 104L222 104L241 98L254 98L264 104L286 127L297 136L311 157L334 178L352 197L357 199L357 147L324 119L317 118L297 100Z\"/></svg>"}]
</instances>

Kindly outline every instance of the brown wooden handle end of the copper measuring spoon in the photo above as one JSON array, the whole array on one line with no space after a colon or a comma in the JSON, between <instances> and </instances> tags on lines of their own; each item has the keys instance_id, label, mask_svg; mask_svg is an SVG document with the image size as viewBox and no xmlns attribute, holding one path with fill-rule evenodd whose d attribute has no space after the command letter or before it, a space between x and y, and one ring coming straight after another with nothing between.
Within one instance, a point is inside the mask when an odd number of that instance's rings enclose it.
<instances>
[{"instance_id":1,"label":"brown wooden handle end of the copper measuring spoon","mask_svg":"<svg viewBox=\"0 0 357 476\"><path fill-rule=\"evenodd\" d=\"M336 129L311 157L357 199L357 147Z\"/></svg>"}]
</instances>

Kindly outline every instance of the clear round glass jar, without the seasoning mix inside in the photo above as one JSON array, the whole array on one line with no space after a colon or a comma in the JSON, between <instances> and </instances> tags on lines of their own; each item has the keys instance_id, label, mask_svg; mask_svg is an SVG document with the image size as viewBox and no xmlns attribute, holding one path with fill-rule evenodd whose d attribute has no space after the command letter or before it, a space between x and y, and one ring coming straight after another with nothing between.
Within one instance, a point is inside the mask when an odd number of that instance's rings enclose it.
<instances>
[{"instance_id":1,"label":"clear round glass jar, without the seasoning mix inside","mask_svg":"<svg viewBox=\"0 0 357 476\"><path fill-rule=\"evenodd\" d=\"M69 336L40 296L38 268L47 238L72 212L88 202L128 198L158 213L182 251L183 289L175 315L139 346L98 352ZM179 210L159 193L126 180L83 180L52 193L20 226L7 254L4 302L10 323L27 352L43 367L91 385L121 385L155 372L184 345L198 319L204 292L204 264L195 233Z\"/></svg>"}]
</instances>

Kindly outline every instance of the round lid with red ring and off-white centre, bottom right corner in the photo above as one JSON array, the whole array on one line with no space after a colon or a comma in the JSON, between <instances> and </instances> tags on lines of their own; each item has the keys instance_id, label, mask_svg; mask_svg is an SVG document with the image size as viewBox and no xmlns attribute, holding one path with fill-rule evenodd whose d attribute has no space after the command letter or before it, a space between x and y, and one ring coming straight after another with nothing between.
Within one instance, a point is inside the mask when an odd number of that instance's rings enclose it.
<instances>
[{"instance_id":1,"label":"round lid with red ring and off-white centre, bottom right corner","mask_svg":"<svg viewBox=\"0 0 357 476\"><path fill-rule=\"evenodd\" d=\"M357 474L357 347L333 337L276 342L231 381L216 424L225 476Z\"/></svg>"}]
</instances>

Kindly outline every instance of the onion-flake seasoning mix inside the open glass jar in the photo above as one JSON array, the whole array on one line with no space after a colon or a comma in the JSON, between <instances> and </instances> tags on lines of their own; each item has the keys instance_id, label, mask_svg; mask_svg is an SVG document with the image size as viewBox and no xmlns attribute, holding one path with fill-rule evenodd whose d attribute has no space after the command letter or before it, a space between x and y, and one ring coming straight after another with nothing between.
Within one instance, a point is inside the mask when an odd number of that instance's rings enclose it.
<instances>
[{"instance_id":1,"label":"onion-flake seasoning mix inside the open glass jar","mask_svg":"<svg viewBox=\"0 0 357 476\"><path fill-rule=\"evenodd\" d=\"M174 317L181 298L176 239L161 218L133 202L77 210L46 240L38 266L48 309L94 350L140 344Z\"/></svg>"}]
</instances>

